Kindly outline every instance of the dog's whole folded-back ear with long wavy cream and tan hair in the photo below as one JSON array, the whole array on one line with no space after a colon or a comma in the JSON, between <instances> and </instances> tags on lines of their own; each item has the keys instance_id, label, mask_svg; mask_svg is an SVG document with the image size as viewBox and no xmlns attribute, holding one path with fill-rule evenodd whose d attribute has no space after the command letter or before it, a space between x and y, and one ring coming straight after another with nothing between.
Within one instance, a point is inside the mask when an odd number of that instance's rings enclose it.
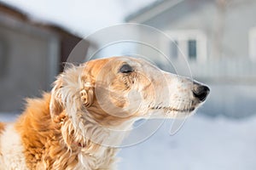
<instances>
[{"instance_id":1,"label":"dog's whole folded-back ear with long wavy cream and tan hair","mask_svg":"<svg viewBox=\"0 0 256 170\"><path fill-rule=\"evenodd\" d=\"M93 103L94 82L86 72L83 67L73 66L57 77L49 104L52 118L64 110L67 115L73 116L82 106L90 107Z\"/></svg>"}]
</instances>

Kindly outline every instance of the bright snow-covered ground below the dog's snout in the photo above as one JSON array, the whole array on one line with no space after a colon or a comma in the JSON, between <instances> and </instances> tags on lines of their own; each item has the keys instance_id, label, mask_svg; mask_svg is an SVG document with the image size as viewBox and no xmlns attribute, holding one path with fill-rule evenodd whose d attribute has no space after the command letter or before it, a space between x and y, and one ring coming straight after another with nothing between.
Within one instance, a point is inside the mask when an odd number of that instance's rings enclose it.
<instances>
[{"instance_id":1,"label":"bright snow-covered ground below the dog's snout","mask_svg":"<svg viewBox=\"0 0 256 170\"><path fill-rule=\"evenodd\" d=\"M15 115L0 114L1 121ZM181 130L169 135L166 121L141 144L119 152L121 170L255 170L256 116L247 119L189 117Z\"/></svg>"}]
</instances>

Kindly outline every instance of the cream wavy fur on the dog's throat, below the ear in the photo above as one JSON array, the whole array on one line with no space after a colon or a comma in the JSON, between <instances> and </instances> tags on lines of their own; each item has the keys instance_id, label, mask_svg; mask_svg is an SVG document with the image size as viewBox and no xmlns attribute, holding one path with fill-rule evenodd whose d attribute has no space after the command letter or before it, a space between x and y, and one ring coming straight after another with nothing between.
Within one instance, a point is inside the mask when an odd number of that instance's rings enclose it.
<instances>
[{"instance_id":1,"label":"cream wavy fur on the dog's throat, below the ear","mask_svg":"<svg viewBox=\"0 0 256 170\"><path fill-rule=\"evenodd\" d=\"M77 156L78 162L74 169L113 169L118 151L116 146L119 146L123 136L102 127L88 115L84 116L84 113L76 113L75 117L63 113L58 119L55 123L59 124L61 144Z\"/></svg>"}]
</instances>

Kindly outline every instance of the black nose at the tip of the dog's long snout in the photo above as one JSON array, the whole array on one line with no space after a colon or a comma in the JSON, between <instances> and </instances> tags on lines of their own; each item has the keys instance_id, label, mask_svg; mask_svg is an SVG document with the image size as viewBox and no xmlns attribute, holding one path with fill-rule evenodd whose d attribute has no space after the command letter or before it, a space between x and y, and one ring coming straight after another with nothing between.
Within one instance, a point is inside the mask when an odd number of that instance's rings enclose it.
<instances>
[{"instance_id":1,"label":"black nose at the tip of the dog's long snout","mask_svg":"<svg viewBox=\"0 0 256 170\"><path fill-rule=\"evenodd\" d=\"M193 94L195 98L199 99L201 102L207 99L207 95L210 93L210 88L207 86L201 85L198 82L194 82Z\"/></svg>"}]
</instances>

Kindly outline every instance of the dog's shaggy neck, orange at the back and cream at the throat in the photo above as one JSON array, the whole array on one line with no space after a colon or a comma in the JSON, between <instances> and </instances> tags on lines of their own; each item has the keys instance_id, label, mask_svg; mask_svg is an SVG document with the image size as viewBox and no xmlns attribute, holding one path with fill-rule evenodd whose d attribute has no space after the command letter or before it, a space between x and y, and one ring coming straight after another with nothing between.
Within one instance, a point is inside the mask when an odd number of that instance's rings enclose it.
<instances>
[{"instance_id":1,"label":"dog's shaggy neck, orange at the back and cream at the throat","mask_svg":"<svg viewBox=\"0 0 256 170\"><path fill-rule=\"evenodd\" d=\"M26 165L30 169L113 169L117 149L96 144L92 136L109 137L93 124L84 132L73 125L65 111L54 119L49 114L50 94L28 101L16 129L24 144ZM34 109L36 108L36 109ZM84 121L84 120L81 120ZM87 128L87 130L85 130ZM81 133L86 133L84 135ZM103 138L102 138L103 139ZM103 141L104 142L104 141Z\"/></svg>"}]
</instances>

